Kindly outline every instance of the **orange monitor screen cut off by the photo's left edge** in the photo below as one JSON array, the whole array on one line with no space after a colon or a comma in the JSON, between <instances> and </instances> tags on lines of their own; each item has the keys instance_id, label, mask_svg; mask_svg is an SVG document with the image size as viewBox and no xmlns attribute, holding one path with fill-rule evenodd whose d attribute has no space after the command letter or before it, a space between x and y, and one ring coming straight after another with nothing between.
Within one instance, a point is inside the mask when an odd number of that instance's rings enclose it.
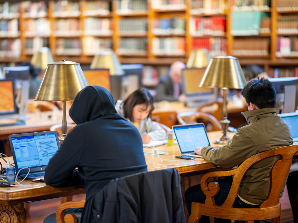
<instances>
[{"instance_id":1,"label":"orange monitor screen cut off by the photo's left edge","mask_svg":"<svg viewBox=\"0 0 298 223\"><path fill-rule=\"evenodd\" d=\"M0 80L0 115L17 113L13 85L11 80Z\"/></svg>"}]
</instances>

